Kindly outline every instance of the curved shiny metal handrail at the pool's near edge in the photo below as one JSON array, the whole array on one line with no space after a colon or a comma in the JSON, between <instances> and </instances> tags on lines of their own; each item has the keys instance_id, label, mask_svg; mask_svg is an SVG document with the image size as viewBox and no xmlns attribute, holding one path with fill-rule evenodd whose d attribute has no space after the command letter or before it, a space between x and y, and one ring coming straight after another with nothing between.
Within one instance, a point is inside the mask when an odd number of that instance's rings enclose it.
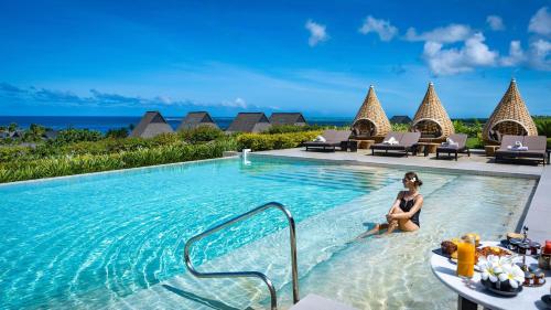
<instances>
[{"instance_id":1,"label":"curved shiny metal handrail at the pool's near edge","mask_svg":"<svg viewBox=\"0 0 551 310\"><path fill-rule=\"evenodd\" d=\"M193 236L191 239L188 239L185 243L185 248L184 248L184 259L185 259L185 266L187 267L187 270L192 272L197 278L240 278L240 277L252 277L252 278L259 278L261 279L267 286L268 289L270 290L270 299L271 299L271 309L276 310L278 309L278 299L276 296L276 288L273 287L272 281L262 272L259 271L233 271L233 272L202 272L197 271L195 267L193 266L193 263L190 258L190 249L192 245L199 239L209 236L227 226L230 226L233 224L239 223L241 221L245 221L249 217L252 217L253 215L261 213L268 209L278 209L283 214L285 215L288 222L289 222L289 237L290 237L290 246L291 246L291 268L292 268L292 277L293 277L293 302L296 303L299 302L299 268L296 265L296 229L295 229L295 224L294 224L294 218L291 215L291 212L283 206L281 203L278 202L269 202L267 204L263 204L261 206L258 206L247 213L244 213L241 215L238 215L236 217L233 217L219 225L216 225L198 235Z\"/></svg>"}]
</instances>

